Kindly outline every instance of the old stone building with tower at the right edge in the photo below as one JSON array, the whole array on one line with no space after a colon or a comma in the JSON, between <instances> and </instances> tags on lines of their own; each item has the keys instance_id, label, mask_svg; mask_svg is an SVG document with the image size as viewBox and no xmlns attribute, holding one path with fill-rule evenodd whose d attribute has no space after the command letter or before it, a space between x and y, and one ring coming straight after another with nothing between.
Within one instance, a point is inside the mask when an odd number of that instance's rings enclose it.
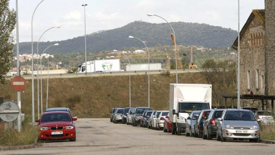
<instances>
[{"instance_id":1,"label":"old stone building with tower at the right edge","mask_svg":"<svg viewBox=\"0 0 275 155\"><path fill-rule=\"evenodd\" d=\"M232 48L237 47L236 39ZM274 96L275 0L265 0L265 9L252 10L240 32L240 60L240 94ZM262 101L242 101L244 106L258 102Z\"/></svg>"}]
</instances>

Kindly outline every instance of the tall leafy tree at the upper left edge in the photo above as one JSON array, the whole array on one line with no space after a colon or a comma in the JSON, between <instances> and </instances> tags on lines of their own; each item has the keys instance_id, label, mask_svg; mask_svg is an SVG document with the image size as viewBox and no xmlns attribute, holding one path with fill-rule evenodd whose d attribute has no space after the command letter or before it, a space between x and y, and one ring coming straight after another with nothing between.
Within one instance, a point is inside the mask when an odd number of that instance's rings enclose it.
<instances>
[{"instance_id":1,"label":"tall leafy tree at the upper left edge","mask_svg":"<svg viewBox=\"0 0 275 155\"><path fill-rule=\"evenodd\" d=\"M0 1L0 83L11 68L13 56L12 30L16 24L16 13L9 9L9 0Z\"/></svg>"}]
</instances>

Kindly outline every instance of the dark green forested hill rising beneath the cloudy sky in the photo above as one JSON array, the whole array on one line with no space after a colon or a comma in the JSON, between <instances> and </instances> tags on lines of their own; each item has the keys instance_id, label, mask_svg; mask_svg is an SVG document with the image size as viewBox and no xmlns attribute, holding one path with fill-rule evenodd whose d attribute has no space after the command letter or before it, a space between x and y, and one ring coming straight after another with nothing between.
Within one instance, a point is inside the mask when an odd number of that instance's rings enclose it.
<instances>
[{"instance_id":1,"label":"dark green forested hill rising beneath the cloudy sky","mask_svg":"<svg viewBox=\"0 0 275 155\"><path fill-rule=\"evenodd\" d=\"M175 30L177 44L182 45L231 47L237 36L237 31L235 30L208 24L173 22L171 25ZM88 34L87 51L96 52L119 50L122 47L144 47L138 40L129 39L129 35L146 41L149 47L171 45L171 33L172 30L167 23L156 24L135 21L121 28ZM42 51L54 43L56 41L41 42L39 43L39 50ZM84 36L58 41L58 43L58 47L48 49L47 53L77 53L84 51ZM34 47L36 47L36 43L34 43ZM20 43L20 53L30 53L30 51L30 42Z\"/></svg>"}]
</instances>

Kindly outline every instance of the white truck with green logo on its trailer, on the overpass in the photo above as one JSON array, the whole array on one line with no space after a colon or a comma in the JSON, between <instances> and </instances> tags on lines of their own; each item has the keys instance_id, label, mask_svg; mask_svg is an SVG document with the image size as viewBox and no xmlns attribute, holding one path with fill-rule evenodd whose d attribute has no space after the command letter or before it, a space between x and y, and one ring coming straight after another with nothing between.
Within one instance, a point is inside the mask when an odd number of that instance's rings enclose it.
<instances>
[{"instance_id":1,"label":"white truck with green logo on its trailer, on the overpass","mask_svg":"<svg viewBox=\"0 0 275 155\"><path fill-rule=\"evenodd\" d=\"M84 62L78 65L77 73L86 73L86 69L87 73L120 71L120 59L87 61L87 68Z\"/></svg>"}]
</instances>

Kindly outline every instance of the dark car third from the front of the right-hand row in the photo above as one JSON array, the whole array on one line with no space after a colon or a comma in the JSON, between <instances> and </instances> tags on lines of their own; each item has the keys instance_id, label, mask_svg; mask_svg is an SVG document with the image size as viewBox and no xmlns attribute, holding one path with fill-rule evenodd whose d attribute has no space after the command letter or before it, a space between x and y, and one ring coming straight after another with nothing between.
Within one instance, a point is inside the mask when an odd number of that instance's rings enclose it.
<instances>
[{"instance_id":1,"label":"dark car third from the front of the right-hand row","mask_svg":"<svg viewBox=\"0 0 275 155\"><path fill-rule=\"evenodd\" d=\"M194 137L202 138L202 131L203 131L203 123L208 118L208 115L211 110L202 110L199 118L197 119L195 125L194 125Z\"/></svg>"}]
</instances>

